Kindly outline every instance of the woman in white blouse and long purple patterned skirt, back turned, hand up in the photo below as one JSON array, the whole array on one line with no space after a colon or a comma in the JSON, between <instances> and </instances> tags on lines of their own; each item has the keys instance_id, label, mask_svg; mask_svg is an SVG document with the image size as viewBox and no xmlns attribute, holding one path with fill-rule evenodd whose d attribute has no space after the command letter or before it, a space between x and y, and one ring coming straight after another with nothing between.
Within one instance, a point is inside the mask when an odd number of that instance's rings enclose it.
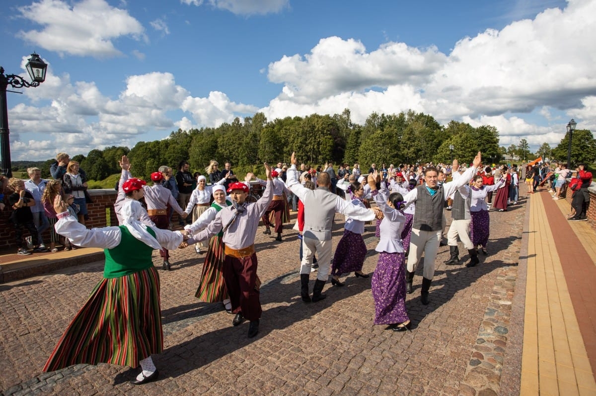
<instances>
[{"instance_id":1,"label":"woman in white blouse and long purple patterned skirt, back turned, hand up","mask_svg":"<svg viewBox=\"0 0 596 396\"><path fill-rule=\"evenodd\" d=\"M403 214L403 197L391 193L384 183L377 190L375 175L368 175L373 199L383 210L381 238L376 251L379 252L377 268L371 280L371 292L375 304L375 325L389 325L387 330L406 331L411 322L406 312L405 250L401 235L406 216Z\"/></svg>"}]
</instances>

